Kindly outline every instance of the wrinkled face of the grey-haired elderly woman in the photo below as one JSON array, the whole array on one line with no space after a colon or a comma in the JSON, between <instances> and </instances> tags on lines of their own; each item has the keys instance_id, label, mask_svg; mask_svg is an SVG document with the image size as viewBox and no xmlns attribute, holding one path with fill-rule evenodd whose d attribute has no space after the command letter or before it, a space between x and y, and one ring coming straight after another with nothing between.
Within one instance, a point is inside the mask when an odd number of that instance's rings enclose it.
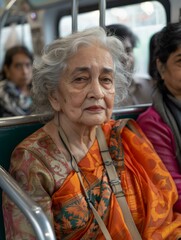
<instances>
[{"instance_id":1,"label":"wrinkled face of the grey-haired elderly woman","mask_svg":"<svg viewBox=\"0 0 181 240\"><path fill-rule=\"evenodd\" d=\"M54 109L81 125L107 121L114 105L114 66L110 53L99 46L81 47L70 58L60 79Z\"/></svg>"}]
</instances>

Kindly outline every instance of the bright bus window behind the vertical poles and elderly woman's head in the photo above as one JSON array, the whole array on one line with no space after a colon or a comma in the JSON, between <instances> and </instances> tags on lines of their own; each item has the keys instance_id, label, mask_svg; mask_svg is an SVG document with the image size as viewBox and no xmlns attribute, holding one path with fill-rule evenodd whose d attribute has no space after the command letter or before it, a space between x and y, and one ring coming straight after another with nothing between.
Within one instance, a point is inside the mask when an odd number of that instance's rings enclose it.
<instances>
[{"instance_id":1,"label":"bright bus window behind the vertical poles and elderly woman's head","mask_svg":"<svg viewBox=\"0 0 181 240\"><path fill-rule=\"evenodd\" d=\"M164 6L158 1L147 1L139 4L118 6L106 9L106 25L125 24L139 37L139 45L134 50L136 75L148 78L148 44L150 37L166 25L167 17ZM98 26L99 11L78 14L78 30ZM63 16L59 21L59 36L63 37L72 31L71 15ZM141 56L141 58L140 58Z\"/></svg>"}]
</instances>

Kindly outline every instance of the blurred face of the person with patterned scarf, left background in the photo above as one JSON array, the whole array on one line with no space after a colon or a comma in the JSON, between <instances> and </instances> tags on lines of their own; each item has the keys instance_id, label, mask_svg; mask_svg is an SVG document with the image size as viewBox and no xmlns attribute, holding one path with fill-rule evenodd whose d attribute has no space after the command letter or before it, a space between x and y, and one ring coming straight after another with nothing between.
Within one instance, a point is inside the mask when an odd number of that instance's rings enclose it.
<instances>
[{"instance_id":1,"label":"blurred face of the person with patterned scarf, left background","mask_svg":"<svg viewBox=\"0 0 181 240\"><path fill-rule=\"evenodd\" d=\"M10 66L5 66L6 77L18 88L28 86L32 80L32 62L24 53L17 53Z\"/></svg>"}]
</instances>

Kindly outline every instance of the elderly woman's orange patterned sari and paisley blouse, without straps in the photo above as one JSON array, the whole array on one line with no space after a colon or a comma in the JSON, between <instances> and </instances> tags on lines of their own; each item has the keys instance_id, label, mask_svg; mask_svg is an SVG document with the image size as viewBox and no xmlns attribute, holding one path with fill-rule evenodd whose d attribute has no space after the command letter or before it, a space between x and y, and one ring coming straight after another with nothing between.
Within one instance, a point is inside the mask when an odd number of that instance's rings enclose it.
<instances>
[{"instance_id":1,"label":"elderly woman's orange patterned sari and paisley blouse, without straps","mask_svg":"<svg viewBox=\"0 0 181 240\"><path fill-rule=\"evenodd\" d=\"M178 194L170 174L134 121L130 121L123 130L120 130L119 134L118 127L119 121L115 122L114 120L102 126L128 206L142 239L176 240L181 238L181 214L173 211ZM36 138L39 138L36 144L33 143L35 135ZM47 148L47 143L52 147ZM37 162L41 162L41 177L37 177L37 169L31 174L32 169L22 168L25 159L17 163L17 152L23 152L25 148L26 160L32 161L31 164L29 162L32 168L35 168ZM32 154L33 158L27 157ZM55 167L58 163L54 158L57 158L57 161L62 164L61 175L58 174ZM112 193L97 139L78 166L88 196L105 222L112 239L131 240L120 206ZM38 195L38 197L34 197L34 200L38 199L50 220L54 222L58 240L105 239L88 207L77 173L69 165L66 165L65 159L58 153L55 144L47 137L43 129L24 140L15 150L11 173L14 177L19 176L18 180L21 180L20 174L17 174L21 171L27 178L36 174L33 186L30 187L24 181L24 188L33 196L30 189L39 186L43 198L41 199ZM52 179L54 183L50 182L49 186L48 183ZM37 183L37 181L39 182ZM52 190L53 187L54 190ZM46 204L45 196L48 196ZM14 221L17 215L13 214L12 203L5 196L3 202L4 217ZM18 224L22 224L23 220L23 217L19 217ZM16 236L20 231L17 225L16 229L11 229ZM6 230L8 230L7 226ZM21 236L26 235L25 229L21 229L21 231L24 231L24 233L21 232ZM12 238L9 237L7 240L9 239Z\"/></svg>"}]
</instances>

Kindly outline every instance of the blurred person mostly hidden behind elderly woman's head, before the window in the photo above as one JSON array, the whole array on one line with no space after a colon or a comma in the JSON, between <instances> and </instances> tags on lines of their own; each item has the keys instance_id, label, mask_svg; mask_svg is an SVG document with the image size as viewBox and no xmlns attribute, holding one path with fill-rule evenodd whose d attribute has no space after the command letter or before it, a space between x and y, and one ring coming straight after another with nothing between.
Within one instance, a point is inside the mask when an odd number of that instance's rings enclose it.
<instances>
[{"instance_id":1,"label":"blurred person mostly hidden behind elderly woman's head, before the window","mask_svg":"<svg viewBox=\"0 0 181 240\"><path fill-rule=\"evenodd\" d=\"M122 24L111 24L106 26L108 34L117 36L124 44L125 50L128 54L128 62L132 71L132 83L129 86L129 94L126 99L121 102L115 100L115 107L120 108L126 105L135 105L151 102L151 93L153 82L151 80L138 78L134 75L135 72L135 58L134 48L139 43L139 38L131 31L131 29ZM119 94L119 93L118 93Z\"/></svg>"}]
</instances>

